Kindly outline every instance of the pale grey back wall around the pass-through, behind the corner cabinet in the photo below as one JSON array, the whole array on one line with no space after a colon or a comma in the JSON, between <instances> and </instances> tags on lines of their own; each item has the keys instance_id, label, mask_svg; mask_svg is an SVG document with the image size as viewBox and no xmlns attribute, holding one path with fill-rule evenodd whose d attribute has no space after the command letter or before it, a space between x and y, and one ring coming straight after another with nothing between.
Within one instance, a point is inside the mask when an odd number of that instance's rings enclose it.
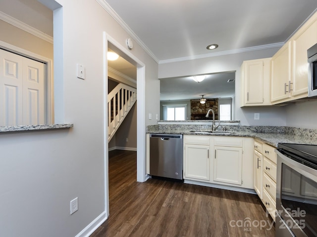
<instances>
[{"instance_id":1,"label":"pale grey back wall around the pass-through, behind the corner cabinet","mask_svg":"<svg viewBox=\"0 0 317 237\"><path fill-rule=\"evenodd\" d=\"M236 71L234 119L241 125L286 125L286 113L283 107L240 108L241 100L241 64L245 60L271 57L278 48L236 53L196 60L159 64L159 78L186 75ZM260 120L254 120L254 113L260 113Z\"/></svg>"}]
</instances>

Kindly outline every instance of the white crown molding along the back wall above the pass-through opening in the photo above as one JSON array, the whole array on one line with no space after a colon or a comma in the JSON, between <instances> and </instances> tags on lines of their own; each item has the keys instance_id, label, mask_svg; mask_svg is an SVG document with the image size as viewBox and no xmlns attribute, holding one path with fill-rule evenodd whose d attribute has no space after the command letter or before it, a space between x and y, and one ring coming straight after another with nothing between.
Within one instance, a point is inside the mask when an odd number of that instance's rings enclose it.
<instances>
[{"instance_id":1,"label":"white crown molding along the back wall above the pass-through opening","mask_svg":"<svg viewBox=\"0 0 317 237\"><path fill-rule=\"evenodd\" d=\"M189 57L183 57L183 58L173 58L173 59L160 60L159 64L175 63L175 62L201 59L201 58L210 58L210 57L223 56L223 55L235 54L235 53L250 52L250 51L263 50L263 49L269 49L269 48L280 48L284 45L284 43L285 42L272 43L272 44L265 44L265 45L255 46L255 47L221 51L221 52L216 52L216 53L208 53L208 54L201 54L201 55L195 55L195 56L189 56Z\"/></svg>"}]
</instances>

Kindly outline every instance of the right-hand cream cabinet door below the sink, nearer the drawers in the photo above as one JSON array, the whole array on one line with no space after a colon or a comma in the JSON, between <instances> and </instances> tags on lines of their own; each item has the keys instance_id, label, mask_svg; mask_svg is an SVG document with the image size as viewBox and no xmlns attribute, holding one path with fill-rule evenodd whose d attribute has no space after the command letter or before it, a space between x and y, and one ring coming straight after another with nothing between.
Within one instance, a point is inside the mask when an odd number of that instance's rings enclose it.
<instances>
[{"instance_id":1,"label":"right-hand cream cabinet door below the sink, nearer the drawers","mask_svg":"<svg viewBox=\"0 0 317 237\"><path fill-rule=\"evenodd\" d=\"M214 147L213 181L242 184L242 148Z\"/></svg>"}]
</instances>

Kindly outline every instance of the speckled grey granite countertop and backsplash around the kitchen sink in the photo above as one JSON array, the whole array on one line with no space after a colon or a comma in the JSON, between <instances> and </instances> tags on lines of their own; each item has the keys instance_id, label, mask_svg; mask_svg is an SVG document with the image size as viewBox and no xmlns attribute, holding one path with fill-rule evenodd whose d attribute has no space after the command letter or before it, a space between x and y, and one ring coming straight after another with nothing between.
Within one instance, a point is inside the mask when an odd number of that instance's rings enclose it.
<instances>
[{"instance_id":1,"label":"speckled grey granite countertop and backsplash around the kitchen sink","mask_svg":"<svg viewBox=\"0 0 317 237\"><path fill-rule=\"evenodd\" d=\"M226 131L221 132L223 128ZM273 147L277 147L278 143L317 145L317 130L315 129L283 126L219 126L215 133L204 132L208 130L211 130L211 127L151 125L148 126L147 133L252 137Z\"/></svg>"}]
</instances>

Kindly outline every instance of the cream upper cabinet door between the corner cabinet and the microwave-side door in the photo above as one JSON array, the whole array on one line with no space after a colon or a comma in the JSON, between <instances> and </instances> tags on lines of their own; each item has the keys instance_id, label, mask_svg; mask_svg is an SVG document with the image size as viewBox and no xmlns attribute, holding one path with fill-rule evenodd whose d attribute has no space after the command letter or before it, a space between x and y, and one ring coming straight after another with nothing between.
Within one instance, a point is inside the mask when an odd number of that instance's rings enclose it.
<instances>
[{"instance_id":1,"label":"cream upper cabinet door between the corner cabinet and the microwave-side door","mask_svg":"<svg viewBox=\"0 0 317 237\"><path fill-rule=\"evenodd\" d=\"M271 59L271 102L290 97L291 44L286 43Z\"/></svg>"}]
</instances>

